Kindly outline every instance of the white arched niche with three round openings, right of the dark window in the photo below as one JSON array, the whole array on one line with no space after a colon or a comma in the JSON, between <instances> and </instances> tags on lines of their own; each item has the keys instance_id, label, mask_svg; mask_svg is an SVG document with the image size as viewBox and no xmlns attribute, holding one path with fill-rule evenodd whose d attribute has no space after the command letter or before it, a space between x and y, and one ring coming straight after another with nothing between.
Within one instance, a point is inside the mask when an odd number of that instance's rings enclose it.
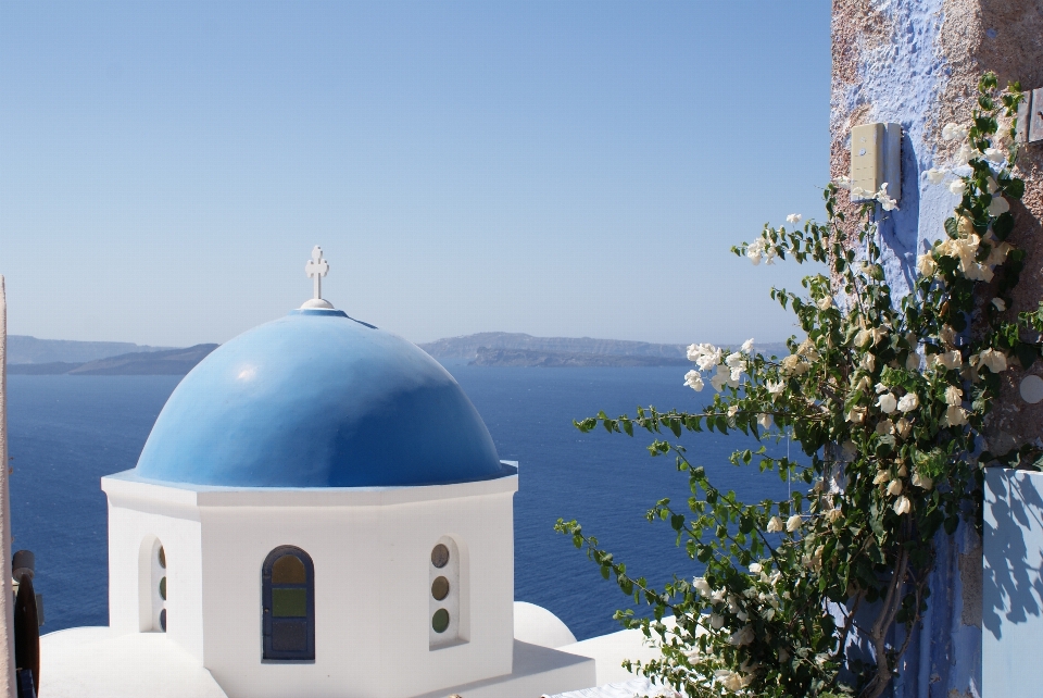
<instances>
[{"instance_id":1,"label":"white arched niche with three round openings, right of the dark window","mask_svg":"<svg viewBox=\"0 0 1043 698\"><path fill-rule=\"evenodd\" d=\"M428 641L430 649L466 641L466 564L462 547L452 536L442 536L428 559Z\"/></svg>"}]
</instances>

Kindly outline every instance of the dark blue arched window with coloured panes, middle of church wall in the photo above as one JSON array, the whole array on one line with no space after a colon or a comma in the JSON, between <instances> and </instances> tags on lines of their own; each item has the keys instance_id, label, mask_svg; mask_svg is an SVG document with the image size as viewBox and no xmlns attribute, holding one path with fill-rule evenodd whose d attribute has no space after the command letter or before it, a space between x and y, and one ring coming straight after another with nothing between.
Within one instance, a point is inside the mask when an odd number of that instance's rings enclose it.
<instances>
[{"instance_id":1,"label":"dark blue arched window with coloured panes, middle of church wall","mask_svg":"<svg viewBox=\"0 0 1043 698\"><path fill-rule=\"evenodd\" d=\"M300 548L280 546L261 568L264 659L315 659L315 569Z\"/></svg>"}]
</instances>

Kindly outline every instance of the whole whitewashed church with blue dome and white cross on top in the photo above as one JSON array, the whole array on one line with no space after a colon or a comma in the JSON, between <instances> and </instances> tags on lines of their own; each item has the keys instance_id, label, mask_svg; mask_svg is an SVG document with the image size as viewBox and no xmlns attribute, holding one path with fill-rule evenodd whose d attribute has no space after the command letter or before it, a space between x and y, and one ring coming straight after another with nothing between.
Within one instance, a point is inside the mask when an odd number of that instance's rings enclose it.
<instances>
[{"instance_id":1,"label":"whole whitewashed church with blue dome and white cross on top","mask_svg":"<svg viewBox=\"0 0 1043 698\"><path fill-rule=\"evenodd\" d=\"M42 638L42 698L596 685L514 602L516 464L433 359L322 300L326 269L316 248L315 298L204 359L102 478L110 626Z\"/></svg>"}]
</instances>

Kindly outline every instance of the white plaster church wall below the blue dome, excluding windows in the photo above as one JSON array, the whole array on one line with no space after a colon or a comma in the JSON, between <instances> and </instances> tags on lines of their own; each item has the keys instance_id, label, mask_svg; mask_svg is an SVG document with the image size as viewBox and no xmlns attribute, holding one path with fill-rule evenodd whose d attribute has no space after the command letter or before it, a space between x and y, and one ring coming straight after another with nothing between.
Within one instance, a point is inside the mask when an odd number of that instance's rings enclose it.
<instances>
[{"instance_id":1,"label":"white plaster church wall below the blue dome, excluding windows","mask_svg":"<svg viewBox=\"0 0 1043 698\"><path fill-rule=\"evenodd\" d=\"M110 565L117 579L111 587L113 627L138 630L139 591L118 579L129 571L137 579L141 540L154 535L167 551L172 639L188 615L179 604L191 600L201 610L193 647L231 698L287 690L316 698L405 698L512 672L517 477L269 491L105 479L111 502L134 507L110 507ZM447 537L458 562L461 632L458 641L432 648L431 549ZM300 548L314 563L314 661L262 660L261 568L284 545ZM189 569L194 598L177 576Z\"/></svg>"}]
</instances>

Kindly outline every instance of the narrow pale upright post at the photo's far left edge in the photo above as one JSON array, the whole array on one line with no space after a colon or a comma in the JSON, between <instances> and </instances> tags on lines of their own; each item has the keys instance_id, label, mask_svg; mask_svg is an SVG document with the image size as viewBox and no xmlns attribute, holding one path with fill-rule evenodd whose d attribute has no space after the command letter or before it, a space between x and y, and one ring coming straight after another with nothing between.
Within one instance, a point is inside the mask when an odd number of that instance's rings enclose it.
<instances>
[{"instance_id":1,"label":"narrow pale upright post at the photo's far left edge","mask_svg":"<svg viewBox=\"0 0 1043 698\"><path fill-rule=\"evenodd\" d=\"M0 698L16 698L8 462L8 303L0 276Z\"/></svg>"}]
</instances>

